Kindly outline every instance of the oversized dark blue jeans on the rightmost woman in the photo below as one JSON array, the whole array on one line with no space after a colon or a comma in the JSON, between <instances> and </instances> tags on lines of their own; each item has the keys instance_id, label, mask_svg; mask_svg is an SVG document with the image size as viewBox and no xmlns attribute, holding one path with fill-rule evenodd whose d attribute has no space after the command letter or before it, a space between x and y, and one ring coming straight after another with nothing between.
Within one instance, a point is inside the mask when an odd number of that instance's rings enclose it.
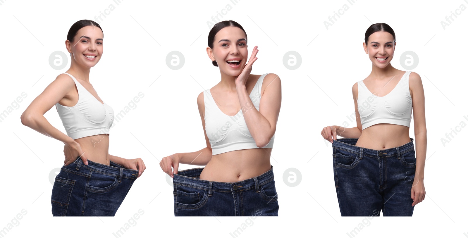
<instances>
[{"instance_id":1,"label":"oversized dark blue jeans on the rightmost woman","mask_svg":"<svg viewBox=\"0 0 468 238\"><path fill-rule=\"evenodd\" d=\"M358 138L333 141L333 171L341 216L412 216L416 172L413 138L386 150L355 146Z\"/></svg>"}]
</instances>

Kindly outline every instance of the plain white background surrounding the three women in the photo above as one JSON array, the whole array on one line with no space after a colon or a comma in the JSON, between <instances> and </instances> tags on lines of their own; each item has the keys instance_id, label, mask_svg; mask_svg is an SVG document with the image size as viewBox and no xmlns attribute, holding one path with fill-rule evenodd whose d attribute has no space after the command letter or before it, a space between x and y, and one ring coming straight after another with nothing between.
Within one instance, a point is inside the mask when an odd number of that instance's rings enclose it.
<instances>
[{"instance_id":1,"label":"plain white background surrounding the three women","mask_svg":"<svg viewBox=\"0 0 468 238\"><path fill-rule=\"evenodd\" d=\"M372 64L362 43L366 29L377 22L388 23L395 30L392 65L405 70L400 56L407 50L419 58L411 71L421 76L426 99L427 195L415 207L413 217L365 220L355 237L465 237L464 232L468 233L467 156L463 150L468 128L457 127L459 132L452 134L449 143L441 142L456 126L468 124L468 11L457 10L460 15L454 21L445 29L441 25L462 4L468 7L468 1L355 0L351 5L347 0L307 4L238 0L234 5L230 0L121 0L117 5L113 0L0 0L0 4L0 111L22 92L27 94L19 108L0 123L0 230L14 222L5 237L115 237L113 232L124 227L139 209L144 214L136 223L131 221L121 237L233 237L231 233L248 217L174 217L173 188L158 164L170 154L205 147L196 99L220 80L219 69L212 66L205 48L210 30L207 21L221 11L226 15L220 20L234 20L244 27L249 50L258 45L252 73L278 74L283 90L271 159L279 216L248 221L238 237L350 237L347 233L363 223L363 217L340 216L331 144L320 131L346 122L356 126L347 117L354 112L351 87L370 73ZM115 9L106 10L111 4ZM223 10L227 4L230 11ZM349 9L340 10L344 14L327 29L323 22L344 4ZM110 154L140 157L147 169L115 217L56 218L51 216L50 174L63 165L63 144L23 126L20 115L68 69L68 53L63 70L53 69L49 57L57 50L66 52L71 25L81 19L95 20L101 12L108 13L99 21L104 54L91 70L90 82L116 113L139 92L144 94L137 107L112 128ZM173 50L185 58L179 70L166 65L166 56ZM283 64L283 56L291 50L302 58L296 70ZM65 132L55 108L45 117ZM412 138L413 129L411 123ZM180 170L190 167L182 165ZM296 180L295 187L283 180L289 168L300 171L301 180ZM296 176L298 179L299 174ZM26 215L15 220L22 209Z\"/></svg>"}]
</instances>

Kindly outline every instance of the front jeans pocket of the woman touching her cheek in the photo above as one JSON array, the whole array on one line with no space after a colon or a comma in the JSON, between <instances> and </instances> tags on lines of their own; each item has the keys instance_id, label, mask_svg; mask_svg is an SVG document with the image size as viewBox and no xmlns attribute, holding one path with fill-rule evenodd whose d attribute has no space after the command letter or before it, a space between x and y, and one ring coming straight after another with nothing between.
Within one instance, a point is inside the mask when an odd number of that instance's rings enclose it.
<instances>
[{"instance_id":1,"label":"front jeans pocket of the woman touching her cheek","mask_svg":"<svg viewBox=\"0 0 468 238\"><path fill-rule=\"evenodd\" d=\"M174 188L174 203L177 209L198 209L208 201L208 191L179 186Z\"/></svg>"}]
</instances>

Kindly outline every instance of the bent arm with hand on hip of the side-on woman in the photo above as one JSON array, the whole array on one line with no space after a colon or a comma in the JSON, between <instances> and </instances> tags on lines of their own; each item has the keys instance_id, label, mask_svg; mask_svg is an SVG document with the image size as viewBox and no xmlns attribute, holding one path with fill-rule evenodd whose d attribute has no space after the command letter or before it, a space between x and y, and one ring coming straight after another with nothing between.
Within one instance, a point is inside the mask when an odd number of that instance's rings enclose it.
<instances>
[{"instance_id":1,"label":"bent arm with hand on hip of the side-on woman","mask_svg":"<svg viewBox=\"0 0 468 238\"><path fill-rule=\"evenodd\" d=\"M66 145L64 152L66 153L65 165L73 163L76 158L81 157L87 165L86 156L81 151L80 144L74 141L71 137L53 127L51 123L45 119L44 114L49 111L57 102L70 101L68 93L75 87L73 79L66 75L60 74L44 91L34 99L28 108L21 115L21 123L38 131L48 137L52 137L63 142Z\"/></svg>"}]
</instances>

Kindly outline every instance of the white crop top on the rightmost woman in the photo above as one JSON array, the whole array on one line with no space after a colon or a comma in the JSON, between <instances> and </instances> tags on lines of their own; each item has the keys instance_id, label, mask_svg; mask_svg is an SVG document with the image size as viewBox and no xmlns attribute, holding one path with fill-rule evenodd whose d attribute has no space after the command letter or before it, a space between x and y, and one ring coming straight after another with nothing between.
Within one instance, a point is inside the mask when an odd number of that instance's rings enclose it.
<instances>
[{"instance_id":1,"label":"white crop top on the rightmost woman","mask_svg":"<svg viewBox=\"0 0 468 238\"><path fill-rule=\"evenodd\" d=\"M358 112L362 130L389 123L409 127L413 101L409 93L409 74L405 72L395 88L383 97L372 94L363 80L358 81Z\"/></svg>"}]
</instances>

